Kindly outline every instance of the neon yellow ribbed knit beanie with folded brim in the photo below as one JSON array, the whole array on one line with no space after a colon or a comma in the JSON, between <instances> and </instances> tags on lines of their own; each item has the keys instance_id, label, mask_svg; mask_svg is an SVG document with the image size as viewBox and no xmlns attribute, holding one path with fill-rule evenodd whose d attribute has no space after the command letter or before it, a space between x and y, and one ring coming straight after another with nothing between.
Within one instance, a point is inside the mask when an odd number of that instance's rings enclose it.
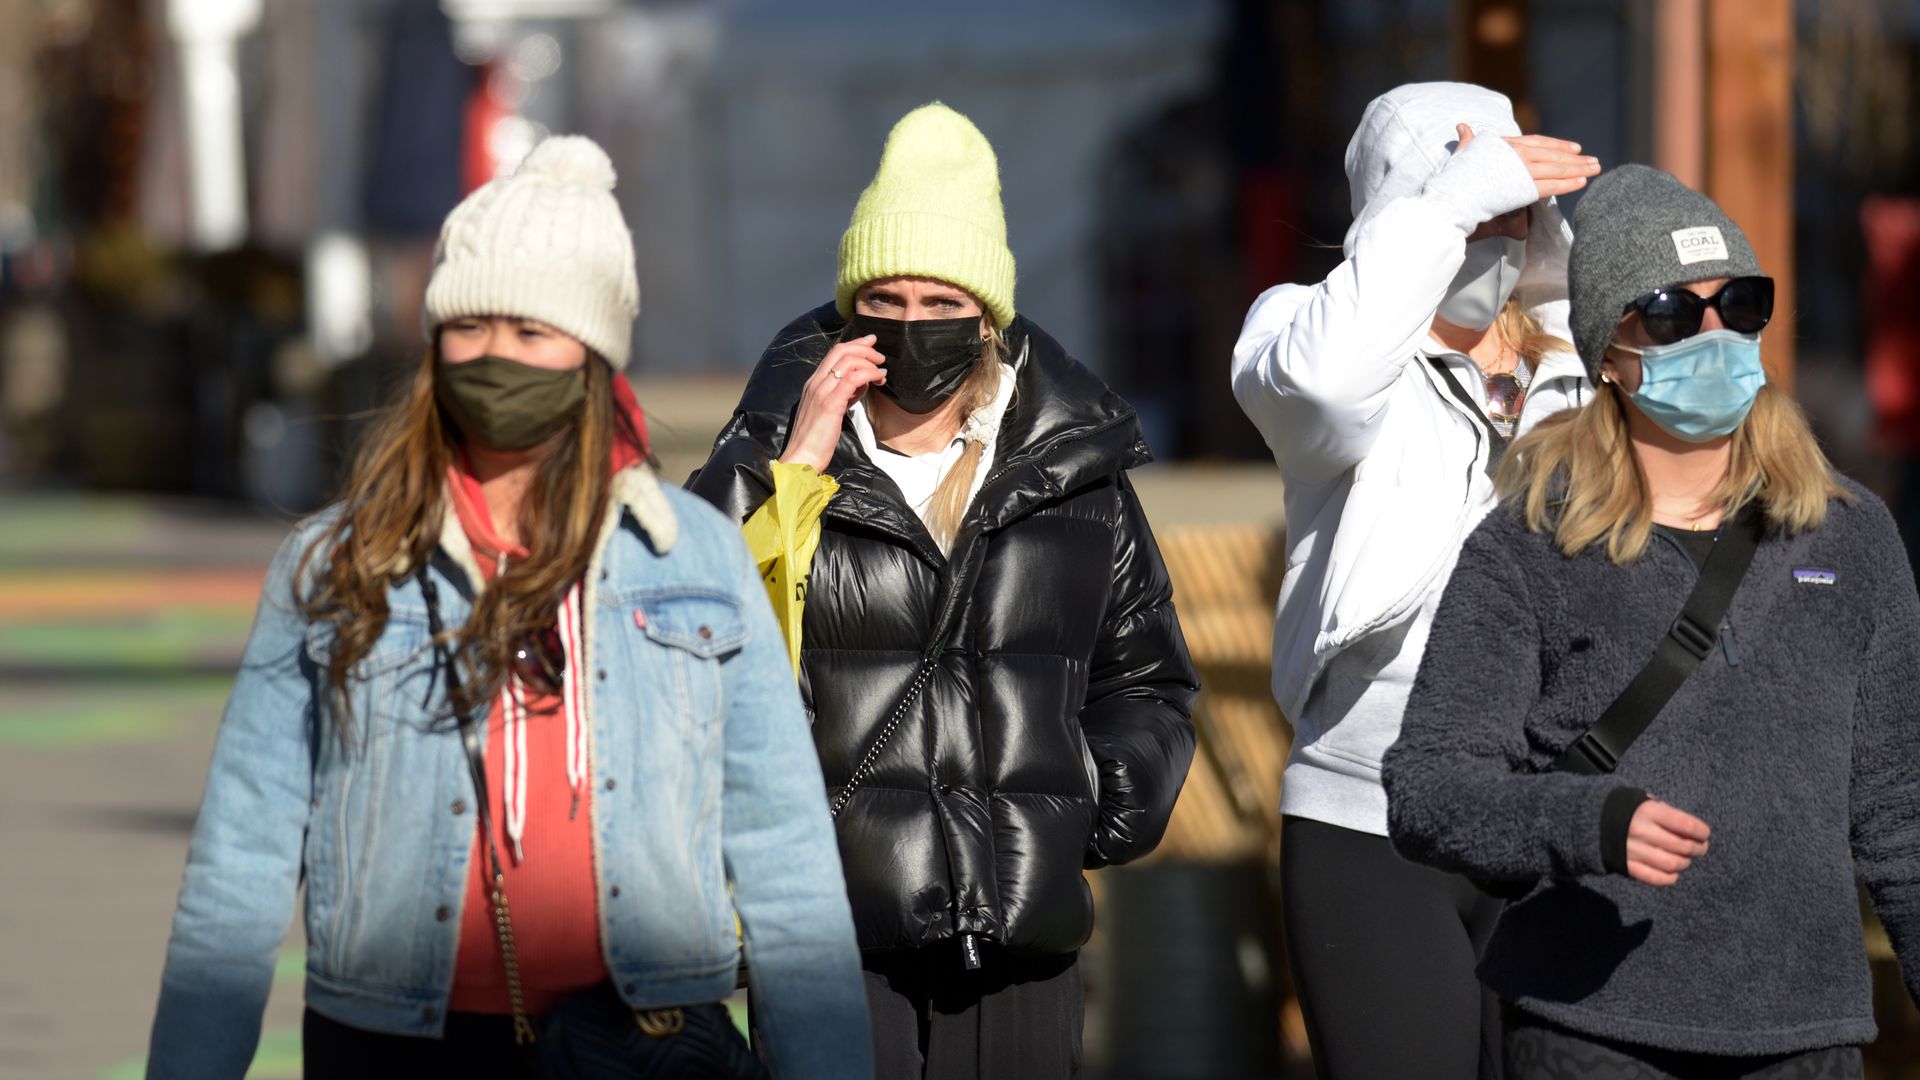
<instances>
[{"instance_id":1,"label":"neon yellow ribbed knit beanie with folded brim","mask_svg":"<svg viewBox=\"0 0 1920 1080\"><path fill-rule=\"evenodd\" d=\"M1006 248L1000 161L973 121L933 102L887 135L874 183L841 236L833 304L883 277L933 277L979 298L996 327L1014 321L1014 252Z\"/></svg>"}]
</instances>

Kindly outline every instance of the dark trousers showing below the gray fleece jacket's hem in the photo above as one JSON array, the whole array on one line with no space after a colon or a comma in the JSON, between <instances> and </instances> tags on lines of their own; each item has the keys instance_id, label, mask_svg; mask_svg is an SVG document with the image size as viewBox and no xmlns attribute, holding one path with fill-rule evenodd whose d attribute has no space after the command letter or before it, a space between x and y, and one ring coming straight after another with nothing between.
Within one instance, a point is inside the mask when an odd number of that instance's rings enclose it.
<instances>
[{"instance_id":1,"label":"dark trousers showing below the gray fleece jacket's hem","mask_svg":"<svg viewBox=\"0 0 1920 1080\"><path fill-rule=\"evenodd\" d=\"M1509 1080L1860 1080L1860 1047L1768 1057L1653 1049L1582 1036L1507 1009Z\"/></svg>"}]
</instances>

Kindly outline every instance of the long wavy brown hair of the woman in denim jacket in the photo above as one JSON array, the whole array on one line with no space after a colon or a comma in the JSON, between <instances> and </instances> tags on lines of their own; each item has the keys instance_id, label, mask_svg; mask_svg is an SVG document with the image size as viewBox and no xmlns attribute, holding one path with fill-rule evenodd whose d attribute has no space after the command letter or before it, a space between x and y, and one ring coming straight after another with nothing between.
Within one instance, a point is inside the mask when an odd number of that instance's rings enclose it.
<instances>
[{"instance_id":1,"label":"long wavy brown hair of the woman in denim jacket","mask_svg":"<svg viewBox=\"0 0 1920 1080\"><path fill-rule=\"evenodd\" d=\"M459 446L451 419L434 400L438 350L428 348L397 402L361 442L348 473L340 515L301 559L296 580L309 580L294 601L313 623L334 630L326 682L342 703L342 738L351 721L348 680L386 630L388 586L415 573L440 544L447 517L447 467ZM461 665L459 715L490 703L507 678L513 648L551 626L566 592L593 557L607 515L607 469L614 438L641 446L632 419L616 407L614 371L588 354L586 404L541 457L520 502L520 536L530 557L511 563L486 584L465 626L449 630Z\"/></svg>"}]
</instances>

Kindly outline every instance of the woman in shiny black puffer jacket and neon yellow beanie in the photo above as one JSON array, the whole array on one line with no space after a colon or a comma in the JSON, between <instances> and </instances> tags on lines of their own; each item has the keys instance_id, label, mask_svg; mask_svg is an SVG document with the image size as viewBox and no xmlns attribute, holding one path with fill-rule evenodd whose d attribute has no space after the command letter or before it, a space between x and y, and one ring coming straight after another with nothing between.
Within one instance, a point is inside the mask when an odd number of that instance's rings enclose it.
<instances>
[{"instance_id":1,"label":"woman in shiny black puffer jacket and neon yellow beanie","mask_svg":"<svg viewBox=\"0 0 1920 1080\"><path fill-rule=\"evenodd\" d=\"M1081 871L1158 844L1194 748L1125 475L1146 444L1014 313L993 150L952 110L895 127L839 261L837 302L774 338L689 488L745 521L776 459L839 482L801 688L879 1074L1071 1076Z\"/></svg>"}]
</instances>

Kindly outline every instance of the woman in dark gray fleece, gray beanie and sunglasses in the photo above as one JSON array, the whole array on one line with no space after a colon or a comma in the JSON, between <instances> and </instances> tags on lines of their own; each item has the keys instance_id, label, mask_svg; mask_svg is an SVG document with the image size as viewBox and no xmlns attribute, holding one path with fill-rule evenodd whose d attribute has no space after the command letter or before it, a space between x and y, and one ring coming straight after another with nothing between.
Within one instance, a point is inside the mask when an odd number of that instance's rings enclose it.
<instances>
[{"instance_id":1,"label":"woman in dark gray fleece, gray beanie and sunglasses","mask_svg":"<svg viewBox=\"0 0 1920 1080\"><path fill-rule=\"evenodd\" d=\"M1534 882L1480 978L1511 1078L1859 1076L1855 874L1920 990L1920 598L1885 505L1764 384L1772 282L1642 165L1574 217L1592 405L1515 444L1384 761L1402 855ZM1551 771L1764 515L1716 648L1611 774Z\"/></svg>"}]
</instances>

